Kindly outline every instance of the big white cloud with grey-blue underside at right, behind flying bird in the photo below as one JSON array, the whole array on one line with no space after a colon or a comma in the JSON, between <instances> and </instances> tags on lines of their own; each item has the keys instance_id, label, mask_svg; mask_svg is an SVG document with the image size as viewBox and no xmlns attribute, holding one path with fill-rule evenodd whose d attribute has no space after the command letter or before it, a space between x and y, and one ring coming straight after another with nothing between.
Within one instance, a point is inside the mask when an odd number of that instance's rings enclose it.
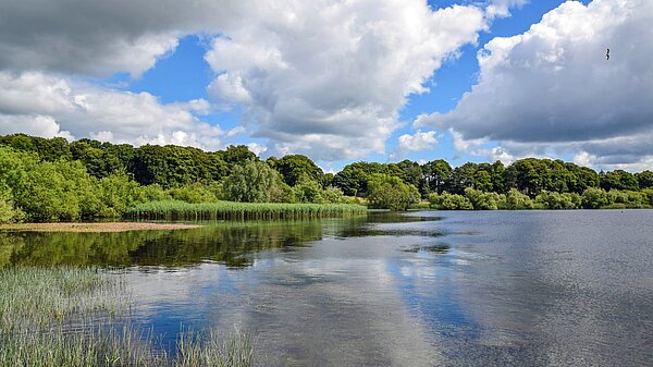
<instances>
[{"instance_id":1,"label":"big white cloud with grey-blue underside at right, behind flying bird","mask_svg":"<svg viewBox=\"0 0 653 367\"><path fill-rule=\"evenodd\" d=\"M653 148L652 22L649 0L564 2L526 33L485 45L471 91L415 124L634 164Z\"/></svg>"}]
</instances>

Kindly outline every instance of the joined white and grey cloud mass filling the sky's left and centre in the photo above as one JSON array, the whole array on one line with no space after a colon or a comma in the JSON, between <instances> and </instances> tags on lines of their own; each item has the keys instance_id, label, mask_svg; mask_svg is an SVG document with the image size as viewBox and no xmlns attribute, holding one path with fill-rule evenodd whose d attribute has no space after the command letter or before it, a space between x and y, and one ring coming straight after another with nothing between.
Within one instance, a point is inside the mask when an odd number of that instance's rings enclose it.
<instances>
[{"instance_id":1,"label":"joined white and grey cloud mass filling the sky's left and centre","mask_svg":"<svg viewBox=\"0 0 653 367\"><path fill-rule=\"evenodd\" d=\"M49 135L59 126L77 137L217 146L205 136L219 127L194 117L210 113L207 101L161 105L77 78L138 77L180 37L219 35L206 56L217 73L208 86L213 108L243 106L247 131L268 138L274 154L328 160L383 152L406 98L427 93L443 60L485 27L480 8L434 11L424 0L30 0L2 8L4 119L49 119Z\"/></svg>"}]
</instances>

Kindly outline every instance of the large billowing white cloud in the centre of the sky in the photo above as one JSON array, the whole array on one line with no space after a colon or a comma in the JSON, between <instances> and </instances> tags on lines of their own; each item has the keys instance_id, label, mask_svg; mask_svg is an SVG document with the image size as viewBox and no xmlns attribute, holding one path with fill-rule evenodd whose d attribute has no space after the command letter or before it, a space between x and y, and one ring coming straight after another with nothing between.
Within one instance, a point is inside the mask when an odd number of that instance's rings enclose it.
<instances>
[{"instance_id":1,"label":"large billowing white cloud in the centre of the sky","mask_svg":"<svg viewBox=\"0 0 653 367\"><path fill-rule=\"evenodd\" d=\"M324 160L383 152L406 98L485 26L479 8L422 0L267 2L245 20L206 56L212 97L244 106L274 154Z\"/></svg>"}]
</instances>

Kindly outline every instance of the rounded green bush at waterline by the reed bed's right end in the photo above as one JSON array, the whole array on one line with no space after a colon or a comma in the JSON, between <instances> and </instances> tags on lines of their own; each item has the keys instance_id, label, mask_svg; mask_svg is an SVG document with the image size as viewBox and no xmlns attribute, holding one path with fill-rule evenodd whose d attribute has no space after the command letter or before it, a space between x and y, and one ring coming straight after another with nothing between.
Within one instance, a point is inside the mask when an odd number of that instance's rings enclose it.
<instances>
[{"instance_id":1,"label":"rounded green bush at waterline by the reed bed's right end","mask_svg":"<svg viewBox=\"0 0 653 367\"><path fill-rule=\"evenodd\" d=\"M368 203L372 208L406 210L419 203L417 187L405 184L399 178L374 173L368 182Z\"/></svg>"}]
</instances>

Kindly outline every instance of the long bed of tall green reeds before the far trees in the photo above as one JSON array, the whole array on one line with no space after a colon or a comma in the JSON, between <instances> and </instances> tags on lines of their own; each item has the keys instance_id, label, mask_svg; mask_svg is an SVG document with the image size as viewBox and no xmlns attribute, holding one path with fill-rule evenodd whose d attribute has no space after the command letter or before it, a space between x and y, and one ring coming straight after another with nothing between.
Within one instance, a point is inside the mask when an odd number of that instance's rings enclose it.
<instances>
[{"instance_id":1,"label":"long bed of tall green reeds before the far trees","mask_svg":"<svg viewBox=\"0 0 653 367\"><path fill-rule=\"evenodd\" d=\"M367 208L353 204L150 201L127 210L133 219L285 219L353 216Z\"/></svg>"}]
</instances>

